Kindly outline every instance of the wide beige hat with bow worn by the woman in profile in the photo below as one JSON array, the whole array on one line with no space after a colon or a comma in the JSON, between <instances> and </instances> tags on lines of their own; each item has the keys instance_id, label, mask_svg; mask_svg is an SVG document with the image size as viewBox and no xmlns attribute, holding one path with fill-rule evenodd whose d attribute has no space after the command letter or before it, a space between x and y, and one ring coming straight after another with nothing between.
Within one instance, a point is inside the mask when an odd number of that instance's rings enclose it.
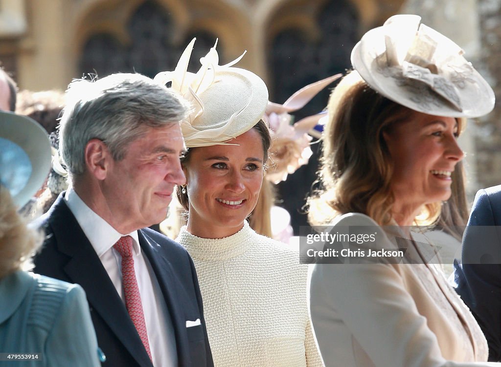
<instances>
[{"instance_id":1,"label":"wide beige hat with bow worn by the woman in profile","mask_svg":"<svg viewBox=\"0 0 501 367\"><path fill-rule=\"evenodd\" d=\"M474 118L494 107L494 93L447 37L397 15L367 32L351 54L353 68L374 90L412 110Z\"/></svg>"}]
</instances>

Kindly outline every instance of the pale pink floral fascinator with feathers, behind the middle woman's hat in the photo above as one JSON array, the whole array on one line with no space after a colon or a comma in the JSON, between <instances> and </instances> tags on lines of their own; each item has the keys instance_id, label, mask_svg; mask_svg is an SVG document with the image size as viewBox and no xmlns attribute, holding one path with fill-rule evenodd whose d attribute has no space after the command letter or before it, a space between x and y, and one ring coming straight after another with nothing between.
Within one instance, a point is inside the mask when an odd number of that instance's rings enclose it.
<instances>
[{"instance_id":1,"label":"pale pink floral fascinator with feathers, behind the middle woman's hat","mask_svg":"<svg viewBox=\"0 0 501 367\"><path fill-rule=\"evenodd\" d=\"M310 148L312 138L308 132L325 114L308 116L292 124L293 116L289 113L303 108L321 90L341 76L337 74L309 84L289 97L283 105L268 103L264 119L270 127L272 136L270 152L273 162L265 176L269 181L275 184L285 181L289 174L308 163L313 154Z\"/></svg>"}]
</instances>

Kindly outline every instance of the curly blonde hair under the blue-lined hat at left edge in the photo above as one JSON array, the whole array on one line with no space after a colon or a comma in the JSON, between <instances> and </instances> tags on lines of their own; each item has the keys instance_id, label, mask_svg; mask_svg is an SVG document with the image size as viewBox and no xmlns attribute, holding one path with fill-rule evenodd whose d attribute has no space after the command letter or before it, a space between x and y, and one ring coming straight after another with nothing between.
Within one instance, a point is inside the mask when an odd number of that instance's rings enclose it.
<instances>
[{"instance_id":1,"label":"curly blonde hair under the blue-lined hat at left edge","mask_svg":"<svg viewBox=\"0 0 501 367\"><path fill-rule=\"evenodd\" d=\"M41 233L28 228L7 188L0 185L0 279L17 270L31 270L32 257L43 242Z\"/></svg>"}]
</instances>

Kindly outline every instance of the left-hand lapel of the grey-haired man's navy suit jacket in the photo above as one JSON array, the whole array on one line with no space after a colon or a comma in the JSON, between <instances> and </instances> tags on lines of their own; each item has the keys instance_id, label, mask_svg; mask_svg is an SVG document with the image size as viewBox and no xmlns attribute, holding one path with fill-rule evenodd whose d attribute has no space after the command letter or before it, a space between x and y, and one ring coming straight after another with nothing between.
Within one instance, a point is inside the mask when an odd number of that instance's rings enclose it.
<instances>
[{"instance_id":1,"label":"left-hand lapel of the grey-haired man's navy suit jacket","mask_svg":"<svg viewBox=\"0 0 501 367\"><path fill-rule=\"evenodd\" d=\"M117 339L129 350L140 365L151 365L151 360L137 333L125 304L118 295L101 260L68 206L60 196L50 215L59 251L70 256L63 270L80 284L89 304L102 317ZM106 352L106 351L105 351Z\"/></svg>"}]
</instances>

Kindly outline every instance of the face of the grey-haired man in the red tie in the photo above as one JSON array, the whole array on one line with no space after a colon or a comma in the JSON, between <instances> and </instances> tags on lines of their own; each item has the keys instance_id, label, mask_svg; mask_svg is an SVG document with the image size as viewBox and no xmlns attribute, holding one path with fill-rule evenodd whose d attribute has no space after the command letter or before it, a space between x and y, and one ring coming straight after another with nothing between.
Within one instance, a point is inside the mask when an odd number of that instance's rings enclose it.
<instances>
[{"instance_id":1,"label":"face of the grey-haired man in the red tie","mask_svg":"<svg viewBox=\"0 0 501 367\"><path fill-rule=\"evenodd\" d=\"M184 151L179 124L171 124L149 128L122 160L110 162L101 189L114 220L128 231L164 220L174 186L186 182L179 161Z\"/></svg>"}]
</instances>

